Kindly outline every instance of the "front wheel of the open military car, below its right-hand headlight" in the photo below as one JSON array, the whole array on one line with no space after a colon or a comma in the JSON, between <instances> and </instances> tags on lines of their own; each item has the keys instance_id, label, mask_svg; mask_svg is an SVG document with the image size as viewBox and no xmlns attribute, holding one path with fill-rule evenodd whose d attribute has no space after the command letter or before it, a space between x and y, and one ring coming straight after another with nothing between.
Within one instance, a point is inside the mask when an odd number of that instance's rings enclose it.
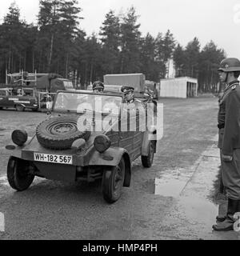
<instances>
[{"instance_id":1,"label":"front wheel of the open military car, below its right-hand headlight","mask_svg":"<svg viewBox=\"0 0 240 256\"><path fill-rule=\"evenodd\" d=\"M102 175L102 194L106 202L118 201L122 193L122 186L125 176L125 162L122 158L118 166L113 166L110 170L104 170Z\"/></svg>"}]
</instances>

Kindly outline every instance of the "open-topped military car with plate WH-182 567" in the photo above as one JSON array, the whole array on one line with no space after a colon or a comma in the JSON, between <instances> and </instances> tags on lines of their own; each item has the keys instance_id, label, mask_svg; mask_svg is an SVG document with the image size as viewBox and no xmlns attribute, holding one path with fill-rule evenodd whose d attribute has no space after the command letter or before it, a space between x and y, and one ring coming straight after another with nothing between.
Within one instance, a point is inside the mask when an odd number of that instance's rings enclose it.
<instances>
[{"instance_id":1,"label":"open-topped military car with plate WH-182 567","mask_svg":"<svg viewBox=\"0 0 240 256\"><path fill-rule=\"evenodd\" d=\"M141 100L146 114L146 98ZM150 167L156 152L150 136L156 130L147 129L139 109L130 114L122 102L122 93L58 92L33 138L25 130L12 133L14 144L6 146L10 186L26 190L34 176L66 182L102 179L103 198L116 202L122 186L130 186L132 162L141 156L142 166Z\"/></svg>"}]
</instances>

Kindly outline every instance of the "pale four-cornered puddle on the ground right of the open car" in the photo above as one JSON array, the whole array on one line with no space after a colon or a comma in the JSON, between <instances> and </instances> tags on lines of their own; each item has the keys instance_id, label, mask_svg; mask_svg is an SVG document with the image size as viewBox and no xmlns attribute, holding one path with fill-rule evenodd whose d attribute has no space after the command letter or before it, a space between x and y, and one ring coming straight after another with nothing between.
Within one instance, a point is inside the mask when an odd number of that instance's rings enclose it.
<instances>
[{"instance_id":1,"label":"pale four-cornered puddle on the ground right of the open car","mask_svg":"<svg viewBox=\"0 0 240 256\"><path fill-rule=\"evenodd\" d=\"M165 197L177 197L186 186L187 180L179 180L176 178L155 178L154 194Z\"/></svg>"}]
</instances>

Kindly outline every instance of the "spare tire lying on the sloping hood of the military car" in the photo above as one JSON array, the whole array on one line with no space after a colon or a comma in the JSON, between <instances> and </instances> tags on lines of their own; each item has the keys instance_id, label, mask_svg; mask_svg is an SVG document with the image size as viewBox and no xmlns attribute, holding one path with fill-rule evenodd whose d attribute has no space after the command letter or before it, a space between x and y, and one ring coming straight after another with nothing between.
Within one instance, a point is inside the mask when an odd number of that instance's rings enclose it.
<instances>
[{"instance_id":1,"label":"spare tire lying on the sloping hood of the military car","mask_svg":"<svg viewBox=\"0 0 240 256\"><path fill-rule=\"evenodd\" d=\"M38 142L52 150L66 150L78 138L90 138L90 123L86 121L86 130L78 130L79 116L61 116L49 118L37 126Z\"/></svg>"}]
</instances>

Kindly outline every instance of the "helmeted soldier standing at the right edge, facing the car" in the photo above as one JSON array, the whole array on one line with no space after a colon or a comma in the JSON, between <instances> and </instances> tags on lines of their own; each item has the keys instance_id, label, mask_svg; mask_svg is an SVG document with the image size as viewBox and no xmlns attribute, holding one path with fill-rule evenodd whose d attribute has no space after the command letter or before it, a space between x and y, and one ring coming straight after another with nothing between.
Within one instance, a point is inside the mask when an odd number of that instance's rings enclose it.
<instances>
[{"instance_id":1,"label":"helmeted soldier standing at the right edge, facing the car","mask_svg":"<svg viewBox=\"0 0 240 256\"><path fill-rule=\"evenodd\" d=\"M226 83L226 89L219 99L218 147L228 206L226 216L217 217L213 229L227 231L234 229L234 214L240 212L240 61L238 58L225 58L218 72L221 82Z\"/></svg>"}]
</instances>

